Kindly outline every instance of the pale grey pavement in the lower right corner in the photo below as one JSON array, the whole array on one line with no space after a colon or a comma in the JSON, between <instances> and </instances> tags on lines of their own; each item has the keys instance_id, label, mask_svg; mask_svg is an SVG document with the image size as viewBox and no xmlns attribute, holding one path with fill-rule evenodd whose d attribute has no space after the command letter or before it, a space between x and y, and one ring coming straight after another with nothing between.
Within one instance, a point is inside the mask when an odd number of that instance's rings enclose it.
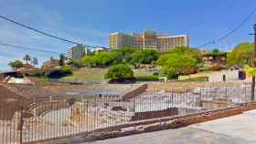
<instances>
[{"instance_id":1,"label":"pale grey pavement in the lower right corner","mask_svg":"<svg viewBox=\"0 0 256 144\"><path fill-rule=\"evenodd\" d=\"M255 144L256 110L182 129L144 133L83 144Z\"/></svg>"}]
</instances>

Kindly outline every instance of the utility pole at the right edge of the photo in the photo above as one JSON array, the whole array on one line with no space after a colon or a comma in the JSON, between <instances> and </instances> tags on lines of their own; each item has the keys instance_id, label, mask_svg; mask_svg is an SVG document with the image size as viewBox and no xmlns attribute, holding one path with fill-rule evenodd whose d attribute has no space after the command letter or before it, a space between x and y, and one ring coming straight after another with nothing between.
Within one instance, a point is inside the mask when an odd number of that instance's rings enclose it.
<instances>
[{"instance_id":1,"label":"utility pole at the right edge of the photo","mask_svg":"<svg viewBox=\"0 0 256 144\"><path fill-rule=\"evenodd\" d=\"M252 52L252 62L251 65L252 67L256 67L256 24L253 25L253 30L254 33L250 34L254 36L254 45L253 45L253 52ZM254 94L254 90L255 90L255 76L252 76L251 79L251 101L254 101L255 99L255 94Z\"/></svg>"}]
</instances>

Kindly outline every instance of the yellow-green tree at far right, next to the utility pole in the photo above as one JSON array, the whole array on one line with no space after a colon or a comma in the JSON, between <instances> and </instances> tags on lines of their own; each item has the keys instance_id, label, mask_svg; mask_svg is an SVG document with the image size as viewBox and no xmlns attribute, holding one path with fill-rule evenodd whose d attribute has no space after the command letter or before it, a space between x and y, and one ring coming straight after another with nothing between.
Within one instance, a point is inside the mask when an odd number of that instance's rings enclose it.
<instances>
[{"instance_id":1,"label":"yellow-green tree at far right, next to the utility pole","mask_svg":"<svg viewBox=\"0 0 256 144\"><path fill-rule=\"evenodd\" d=\"M242 43L235 46L227 56L229 66L251 65L252 47L253 44L250 43Z\"/></svg>"}]
</instances>

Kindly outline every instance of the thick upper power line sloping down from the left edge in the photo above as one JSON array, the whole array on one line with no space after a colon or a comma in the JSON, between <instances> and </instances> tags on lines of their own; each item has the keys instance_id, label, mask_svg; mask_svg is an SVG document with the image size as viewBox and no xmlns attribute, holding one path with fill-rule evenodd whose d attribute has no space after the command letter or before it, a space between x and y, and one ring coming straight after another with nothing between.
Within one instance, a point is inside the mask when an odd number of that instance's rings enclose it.
<instances>
[{"instance_id":1,"label":"thick upper power line sloping down from the left edge","mask_svg":"<svg viewBox=\"0 0 256 144\"><path fill-rule=\"evenodd\" d=\"M55 38L55 39L59 39L60 41L68 42L68 43L71 43L71 44L77 44L77 45L81 45L81 46L87 46L87 47L91 47L91 48L101 47L101 48L104 48L104 49L109 49L109 48L104 47L104 46L89 46L89 45L83 45L83 44L80 44L80 43L78 43L78 42L69 40L69 39L67 39L67 38L62 38L62 37L59 37L59 36L55 36L55 35L52 35L52 34L49 34L49 33L45 32L45 31L38 30L38 29L36 29L36 28L34 28L34 27L32 27L32 26L27 26L27 25L21 24L21 23L19 23L19 22L16 22L15 20L10 19L10 18L8 18L8 17L5 17L4 15L0 15L0 18L6 20L6 21L8 21L8 22L11 22L11 23L13 23L13 24L15 24L15 25L17 25L17 26L21 26L21 27L27 28L27 29L29 29L29 30L32 30L32 31L34 31L34 32L37 32L37 33L39 33L39 34L41 34L41 35L49 36L49 37L52 37L52 38Z\"/></svg>"}]
</instances>

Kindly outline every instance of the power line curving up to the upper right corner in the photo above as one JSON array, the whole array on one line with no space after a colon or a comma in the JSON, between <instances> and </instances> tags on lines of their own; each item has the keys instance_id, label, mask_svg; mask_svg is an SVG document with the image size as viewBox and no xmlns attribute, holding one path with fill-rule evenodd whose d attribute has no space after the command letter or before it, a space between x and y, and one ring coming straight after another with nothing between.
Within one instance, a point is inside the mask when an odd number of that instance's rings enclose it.
<instances>
[{"instance_id":1,"label":"power line curving up to the upper right corner","mask_svg":"<svg viewBox=\"0 0 256 144\"><path fill-rule=\"evenodd\" d=\"M218 39L215 39L215 40L212 40L212 41L209 41L208 43L206 44L203 44L203 45L199 45L197 46L198 48L200 47L203 47L203 46L208 46L208 45L211 45L211 44L215 44L215 43L218 43L220 41L222 41L223 39L227 38L228 36L232 35L233 33L235 33L238 29L240 29L241 26L243 26L251 17L251 15L255 14L256 12L256 8L253 9L251 11L251 13L249 15L247 15L245 17L245 19L243 19L240 24L238 26L236 26L234 29L231 29L227 34L223 35L223 36L220 36Z\"/></svg>"}]
</instances>

